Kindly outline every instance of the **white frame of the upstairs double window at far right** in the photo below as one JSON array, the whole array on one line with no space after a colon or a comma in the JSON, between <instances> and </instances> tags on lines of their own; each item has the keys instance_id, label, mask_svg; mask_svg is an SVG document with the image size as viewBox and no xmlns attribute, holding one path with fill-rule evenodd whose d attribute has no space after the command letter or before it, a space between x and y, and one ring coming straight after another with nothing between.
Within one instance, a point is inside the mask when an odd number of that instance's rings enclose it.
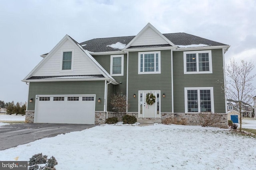
<instances>
[{"instance_id":1,"label":"white frame of the upstairs double window at far right","mask_svg":"<svg viewBox=\"0 0 256 170\"><path fill-rule=\"evenodd\" d=\"M208 53L209 54L209 71L199 71L199 53ZM187 71L187 54L196 54L196 71ZM212 73L212 51L184 51L183 52L183 61L184 61L184 74L210 74Z\"/></svg>"}]
</instances>

